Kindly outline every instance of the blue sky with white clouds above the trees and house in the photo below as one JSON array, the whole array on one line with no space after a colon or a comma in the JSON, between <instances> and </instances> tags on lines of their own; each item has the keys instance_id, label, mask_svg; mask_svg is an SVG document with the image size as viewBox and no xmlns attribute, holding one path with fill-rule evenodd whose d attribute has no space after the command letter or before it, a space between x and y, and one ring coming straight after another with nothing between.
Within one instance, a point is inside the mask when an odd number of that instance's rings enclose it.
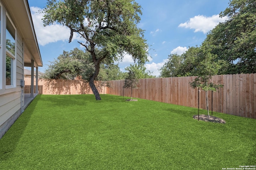
<instances>
[{"instance_id":1,"label":"blue sky with white clouds above the trees and house","mask_svg":"<svg viewBox=\"0 0 256 170\"><path fill-rule=\"evenodd\" d=\"M43 14L38 10L46 6L46 0L28 0L32 20L36 31L38 45L44 66L40 72L48 68L49 61L56 59L63 51L75 47L84 50L73 37L68 43L70 31L67 27L54 24L43 26ZM145 66L158 76L168 55L182 54L189 47L201 45L207 33L225 18L218 14L228 7L229 0L136 0L142 6L142 16L138 27L145 30L144 37L150 45L150 62ZM122 71L133 64L131 56L125 56L118 65Z\"/></svg>"}]
</instances>

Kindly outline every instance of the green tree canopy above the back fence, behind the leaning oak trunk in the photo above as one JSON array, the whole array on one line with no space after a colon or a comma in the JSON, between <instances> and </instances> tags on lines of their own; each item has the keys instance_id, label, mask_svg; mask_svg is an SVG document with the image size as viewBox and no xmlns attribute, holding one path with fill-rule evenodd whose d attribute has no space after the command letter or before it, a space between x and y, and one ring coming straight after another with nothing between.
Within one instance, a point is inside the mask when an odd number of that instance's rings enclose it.
<instances>
[{"instance_id":1,"label":"green tree canopy above the back fence, behind the leaning oak trunk","mask_svg":"<svg viewBox=\"0 0 256 170\"><path fill-rule=\"evenodd\" d=\"M74 50L63 51L61 55L50 62L45 70L42 78L52 79L75 79L82 78L90 80L90 76L94 74L94 66L91 62L91 54L88 51L82 51L78 48ZM120 71L118 64L108 64L102 62L100 64L100 72L96 80L120 80L124 79L124 73Z\"/></svg>"}]
</instances>

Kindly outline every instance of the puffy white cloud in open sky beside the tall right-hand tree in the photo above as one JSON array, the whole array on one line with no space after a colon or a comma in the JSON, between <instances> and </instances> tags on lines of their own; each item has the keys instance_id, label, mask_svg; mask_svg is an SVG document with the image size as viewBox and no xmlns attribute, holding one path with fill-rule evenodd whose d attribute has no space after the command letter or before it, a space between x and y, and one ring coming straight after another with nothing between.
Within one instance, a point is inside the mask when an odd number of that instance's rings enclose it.
<instances>
[{"instance_id":1,"label":"puffy white cloud in open sky beside the tall right-hand tree","mask_svg":"<svg viewBox=\"0 0 256 170\"><path fill-rule=\"evenodd\" d=\"M179 27L185 27L189 29L195 29L194 32L202 31L204 34L212 30L218 23L224 22L225 17L220 18L219 15L213 15L211 17L206 17L203 15L194 16L190 18L189 21L185 23L180 23Z\"/></svg>"}]
</instances>

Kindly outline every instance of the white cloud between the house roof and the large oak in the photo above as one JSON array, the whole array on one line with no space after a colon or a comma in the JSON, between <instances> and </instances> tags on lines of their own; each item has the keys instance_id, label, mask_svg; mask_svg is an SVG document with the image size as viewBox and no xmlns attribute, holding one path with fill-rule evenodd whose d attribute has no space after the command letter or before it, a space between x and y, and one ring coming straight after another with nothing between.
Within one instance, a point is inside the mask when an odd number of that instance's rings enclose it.
<instances>
[{"instance_id":1,"label":"white cloud between the house roof and the large oak","mask_svg":"<svg viewBox=\"0 0 256 170\"><path fill-rule=\"evenodd\" d=\"M31 7L30 10L39 45L44 46L48 43L54 43L57 41L68 41L70 37L70 29L68 27L64 27L57 23L44 27L42 22L44 14L38 13L38 11L42 9L38 7ZM78 34L74 34L73 40L74 39L80 39Z\"/></svg>"}]
</instances>

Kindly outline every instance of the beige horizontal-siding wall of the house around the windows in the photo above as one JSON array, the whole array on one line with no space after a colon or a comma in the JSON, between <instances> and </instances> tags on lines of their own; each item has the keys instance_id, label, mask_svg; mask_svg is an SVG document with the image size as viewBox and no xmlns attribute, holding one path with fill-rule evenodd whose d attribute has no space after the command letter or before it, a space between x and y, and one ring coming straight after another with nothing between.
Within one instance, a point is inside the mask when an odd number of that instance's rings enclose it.
<instances>
[{"instance_id":1,"label":"beige horizontal-siding wall of the house around the windows","mask_svg":"<svg viewBox=\"0 0 256 170\"><path fill-rule=\"evenodd\" d=\"M0 50L0 59L2 60L0 67L2 68L2 76L0 76L0 138L6 133L6 131L10 128L10 126L16 121L19 115L22 113L22 88L21 88L21 80L24 79L23 69L24 69L24 60L23 60L23 38L22 34L20 33L18 27L16 27L16 59L14 66L16 72L14 72L14 86L13 87L6 87L6 24L4 24L6 19L6 8L0 0L2 5L1 8L1 39L2 39L2 48ZM10 9L9 9L10 10ZM12 16L9 15L12 19ZM12 19L12 22L15 26L15 20Z\"/></svg>"}]
</instances>

